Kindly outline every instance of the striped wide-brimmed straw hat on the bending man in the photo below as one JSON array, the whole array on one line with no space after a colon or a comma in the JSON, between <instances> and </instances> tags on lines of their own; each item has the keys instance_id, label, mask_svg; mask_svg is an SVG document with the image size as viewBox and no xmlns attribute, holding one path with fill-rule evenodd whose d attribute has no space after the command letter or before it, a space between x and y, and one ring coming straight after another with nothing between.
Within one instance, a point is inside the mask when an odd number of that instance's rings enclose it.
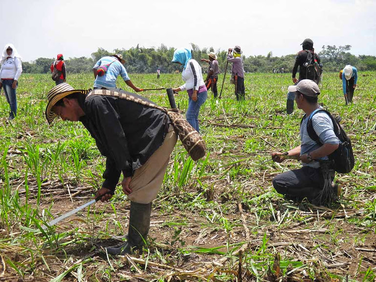
<instances>
[{"instance_id":1,"label":"striped wide-brimmed straw hat on the bending man","mask_svg":"<svg viewBox=\"0 0 376 282\"><path fill-rule=\"evenodd\" d=\"M73 93L82 93L87 94L91 89L88 90L78 90L74 89L67 83L61 83L55 87L53 87L47 94L47 107L45 108L45 117L49 124L54 120L55 117L57 117L56 113L52 111L53 106L55 104L63 99L64 97L73 94Z\"/></svg>"}]
</instances>

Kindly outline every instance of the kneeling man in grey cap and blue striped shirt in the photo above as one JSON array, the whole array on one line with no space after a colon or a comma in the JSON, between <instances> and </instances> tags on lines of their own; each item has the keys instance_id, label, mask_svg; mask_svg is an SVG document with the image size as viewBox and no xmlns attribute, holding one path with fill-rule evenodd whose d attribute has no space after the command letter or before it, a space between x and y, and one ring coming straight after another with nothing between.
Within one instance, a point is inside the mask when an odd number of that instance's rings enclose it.
<instances>
[{"instance_id":1,"label":"kneeling man in grey cap and blue striped shirt","mask_svg":"<svg viewBox=\"0 0 376 282\"><path fill-rule=\"evenodd\" d=\"M288 151L288 158L300 160L303 167L278 174L273 179L273 186L278 193L288 198L307 198L314 204L325 204L332 200L328 195L339 194L338 185L332 185L334 170L328 166L328 155L338 148L339 139L334 133L330 116L322 111L315 112L321 108L317 104L320 89L315 82L304 79L296 86L288 87L288 91L295 92L297 107L306 113L300 125L301 145ZM322 146L312 140L307 131L311 114L313 129ZM279 163L287 158L286 153L281 152L273 152L271 156L273 161Z\"/></svg>"}]
</instances>

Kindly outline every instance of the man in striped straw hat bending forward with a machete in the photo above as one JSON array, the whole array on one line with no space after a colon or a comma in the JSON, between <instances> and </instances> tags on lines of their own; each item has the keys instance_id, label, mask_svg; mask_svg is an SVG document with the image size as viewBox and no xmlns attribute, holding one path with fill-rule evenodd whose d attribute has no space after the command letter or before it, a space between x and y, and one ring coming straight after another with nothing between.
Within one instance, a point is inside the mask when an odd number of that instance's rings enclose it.
<instances>
[{"instance_id":1,"label":"man in striped straw hat bending forward with a machete","mask_svg":"<svg viewBox=\"0 0 376 282\"><path fill-rule=\"evenodd\" d=\"M96 194L102 202L111 199L123 173L123 192L131 200L128 241L107 251L124 255L141 248L148 235L152 201L162 185L177 134L170 118L159 109L101 94L114 93L110 90L89 91L76 90L66 83L53 87L47 95L45 115L48 123L56 116L64 121L79 121L95 139L99 151L106 156L104 182Z\"/></svg>"}]
</instances>

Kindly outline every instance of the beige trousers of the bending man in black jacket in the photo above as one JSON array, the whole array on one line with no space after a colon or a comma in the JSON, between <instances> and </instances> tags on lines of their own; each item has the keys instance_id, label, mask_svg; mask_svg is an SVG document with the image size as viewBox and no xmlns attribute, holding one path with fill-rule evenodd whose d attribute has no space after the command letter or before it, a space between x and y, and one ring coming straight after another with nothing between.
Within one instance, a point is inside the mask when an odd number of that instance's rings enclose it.
<instances>
[{"instance_id":1,"label":"beige trousers of the bending man in black jacket","mask_svg":"<svg viewBox=\"0 0 376 282\"><path fill-rule=\"evenodd\" d=\"M166 173L170 155L177 142L177 133L170 125L162 145L150 156L146 163L134 171L129 184L132 193L128 198L136 203L148 204L158 195Z\"/></svg>"}]
</instances>

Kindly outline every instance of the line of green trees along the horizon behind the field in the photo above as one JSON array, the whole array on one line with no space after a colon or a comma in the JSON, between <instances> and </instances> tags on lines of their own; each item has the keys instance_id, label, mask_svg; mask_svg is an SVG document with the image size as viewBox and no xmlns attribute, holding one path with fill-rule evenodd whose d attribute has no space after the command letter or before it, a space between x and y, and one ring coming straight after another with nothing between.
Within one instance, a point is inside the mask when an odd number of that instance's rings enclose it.
<instances>
[{"instance_id":1,"label":"line of green trees along the horizon behind the field","mask_svg":"<svg viewBox=\"0 0 376 282\"><path fill-rule=\"evenodd\" d=\"M226 65L227 50L214 50L213 47L199 48L198 45L191 43L193 58L199 62L199 59L208 59L207 53L213 51L218 56L218 63L223 72ZM353 65L358 70L376 70L376 56L359 55L355 56L349 51L351 45L335 46L327 45L322 47L319 52L324 71L339 71L345 65ZM181 67L171 62L175 48L167 47L161 44L157 48L145 48L137 45L128 50L114 49L109 52L103 48L98 48L91 57L69 58L65 60L66 71L68 73L91 72L93 65L102 57L111 54L122 54L125 59L126 69L130 73L153 73L160 67L162 73L174 73L181 71ZM66 54L64 54L66 55ZM266 56L243 56L245 72L291 72L295 62L296 54L274 57L272 52ZM50 65L55 59L38 58L33 62L23 62L24 73L49 73ZM199 62L205 71L206 63Z\"/></svg>"}]
</instances>

